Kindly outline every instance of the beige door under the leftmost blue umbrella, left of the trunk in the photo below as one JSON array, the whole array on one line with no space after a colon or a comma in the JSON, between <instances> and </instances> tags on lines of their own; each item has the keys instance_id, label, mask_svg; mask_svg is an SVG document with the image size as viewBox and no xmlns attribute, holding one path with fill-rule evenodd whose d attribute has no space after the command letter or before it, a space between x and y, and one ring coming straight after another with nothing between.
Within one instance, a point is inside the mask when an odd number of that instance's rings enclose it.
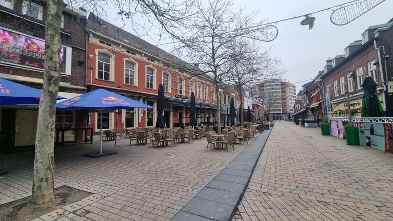
<instances>
[{"instance_id":1,"label":"beige door under the leftmost blue umbrella, left of the trunk","mask_svg":"<svg viewBox=\"0 0 393 221\"><path fill-rule=\"evenodd\" d=\"M15 116L15 146L35 144L38 111L17 110Z\"/></svg>"}]
</instances>

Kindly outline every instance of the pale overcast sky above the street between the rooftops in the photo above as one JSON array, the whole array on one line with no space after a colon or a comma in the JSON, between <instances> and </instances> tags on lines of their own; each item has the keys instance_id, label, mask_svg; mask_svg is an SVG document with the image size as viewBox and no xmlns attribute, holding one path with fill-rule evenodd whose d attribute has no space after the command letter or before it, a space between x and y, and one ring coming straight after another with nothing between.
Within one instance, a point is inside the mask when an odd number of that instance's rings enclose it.
<instances>
[{"instance_id":1,"label":"pale overcast sky above the street between the rooftops","mask_svg":"<svg viewBox=\"0 0 393 221\"><path fill-rule=\"evenodd\" d=\"M237 7L245 7L246 11L259 10L259 18L268 18L271 22L308 14L349 1L234 0L234 3ZM302 84L307 83L307 80L313 79L318 71L323 70L326 59L344 54L344 48L355 40L361 40L361 34L367 27L384 24L392 18L391 9L393 9L393 0L386 0L345 26L336 26L331 23L332 10L315 13L312 15L316 18L312 30L309 30L308 26L300 25L302 18L282 21L275 24L278 28L278 37L272 42L264 42L263 45L267 48L273 46L272 56L280 58L283 69L287 70L283 78L293 83L299 82L296 83L298 92ZM110 22L117 25L118 22L114 18L115 16L111 16ZM127 26L124 29L134 33ZM159 40L154 35L142 38L154 45ZM160 43L162 42L164 41L161 40ZM170 51L170 46L161 46L161 48Z\"/></svg>"}]
</instances>

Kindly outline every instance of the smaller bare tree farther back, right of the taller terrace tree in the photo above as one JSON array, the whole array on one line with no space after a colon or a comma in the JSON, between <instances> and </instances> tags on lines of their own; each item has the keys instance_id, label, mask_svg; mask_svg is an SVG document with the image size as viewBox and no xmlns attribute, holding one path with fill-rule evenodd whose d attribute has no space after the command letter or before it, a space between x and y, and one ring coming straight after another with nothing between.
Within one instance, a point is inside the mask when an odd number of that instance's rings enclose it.
<instances>
[{"instance_id":1,"label":"smaller bare tree farther back, right of the taller terrace tree","mask_svg":"<svg viewBox=\"0 0 393 221\"><path fill-rule=\"evenodd\" d=\"M243 113L243 90L252 89L253 85L266 79L279 78L285 71L279 69L280 59L270 57L272 48L263 50L255 40L237 38L228 46L230 60L227 63L229 68L225 79L232 83L239 93L239 110ZM244 122L243 114L240 114L240 122Z\"/></svg>"}]
</instances>

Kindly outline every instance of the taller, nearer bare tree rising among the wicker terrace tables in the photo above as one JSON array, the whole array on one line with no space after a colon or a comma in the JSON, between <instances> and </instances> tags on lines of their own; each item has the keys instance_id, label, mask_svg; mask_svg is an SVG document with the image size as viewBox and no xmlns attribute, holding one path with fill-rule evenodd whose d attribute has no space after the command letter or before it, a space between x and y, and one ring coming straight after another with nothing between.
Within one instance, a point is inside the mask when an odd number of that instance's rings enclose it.
<instances>
[{"instance_id":1,"label":"taller, nearer bare tree rising among the wicker terrace tables","mask_svg":"<svg viewBox=\"0 0 393 221\"><path fill-rule=\"evenodd\" d=\"M217 125L221 125L220 79L229 71L228 62L231 59L227 46L239 36L258 31L252 27L261 25L262 21L255 23L256 12L235 10L231 0L199 1L193 14L180 29L181 33L174 36L180 41L175 51L190 63L199 64L202 71L194 72L194 76L208 74L212 77ZM221 134L221 130L218 129L217 133Z\"/></svg>"}]
</instances>

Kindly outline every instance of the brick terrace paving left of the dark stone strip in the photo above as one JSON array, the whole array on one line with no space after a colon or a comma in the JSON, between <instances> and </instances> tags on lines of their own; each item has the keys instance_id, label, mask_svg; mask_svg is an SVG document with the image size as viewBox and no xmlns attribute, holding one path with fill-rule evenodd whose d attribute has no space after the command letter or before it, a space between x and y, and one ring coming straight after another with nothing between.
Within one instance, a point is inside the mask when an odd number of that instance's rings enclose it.
<instances>
[{"instance_id":1,"label":"brick terrace paving left of the dark stone strip","mask_svg":"<svg viewBox=\"0 0 393 221\"><path fill-rule=\"evenodd\" d=\"M135 143L135 142L133 142ZM65 216L46 214L42 220L170 220L219 174L246 145L235 150L206 151L206 139L152 148L128 145L128 140L105 142L118 153L102 158L82 157L99 143L68 144L55 149L55 186L68 185L95 193L70 207ZM32 151L0 155L0 204L31 195ZM1 219L1 218L0 218Z\"/></svg>"}]
</instances>

